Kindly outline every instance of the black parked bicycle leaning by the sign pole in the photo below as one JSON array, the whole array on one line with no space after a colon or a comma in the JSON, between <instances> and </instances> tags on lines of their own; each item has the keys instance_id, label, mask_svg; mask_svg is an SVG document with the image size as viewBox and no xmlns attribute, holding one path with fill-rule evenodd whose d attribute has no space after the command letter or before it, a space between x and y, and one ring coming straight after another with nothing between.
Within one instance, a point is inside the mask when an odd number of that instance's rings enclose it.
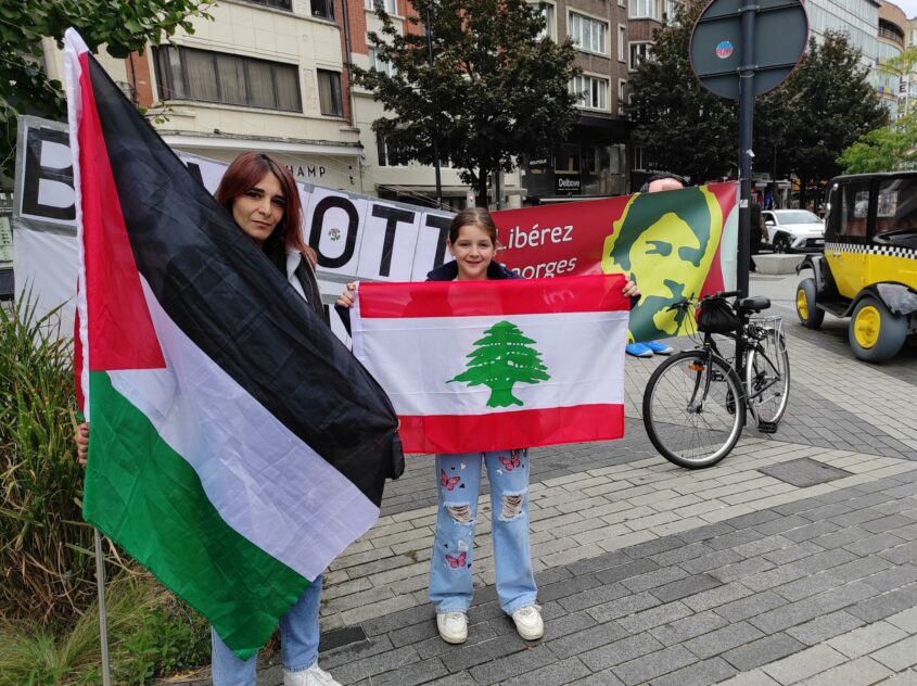
<instances>
[{"instance_id":1,"label":"black parked bicycle leaning by the sign pole","mask_svg":"<svg viewBox=\"0 0 917 686\"><path fill-rule=\"evenodd\" d=\"M782 318L754 317L770 307L769 298L738 295L685 298L668 308L680 310L679 321L693 321L689 309L699 307L703 340L653 371L644 392L644 425L660 454L680 467L711 467L726 457L747 415L760 431L774 433L787 409L790 359ZM714 333L735 341L731 358L721 353Z\"/></svg>"}]
</instances>

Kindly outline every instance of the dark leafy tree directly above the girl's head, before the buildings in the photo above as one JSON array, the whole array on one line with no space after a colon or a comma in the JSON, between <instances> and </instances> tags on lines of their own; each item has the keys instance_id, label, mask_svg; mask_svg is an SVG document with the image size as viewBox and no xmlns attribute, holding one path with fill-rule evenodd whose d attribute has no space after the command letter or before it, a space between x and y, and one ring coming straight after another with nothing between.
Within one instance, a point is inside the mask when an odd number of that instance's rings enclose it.
<instances>
[{"instance_id":1,"label":"dark leafy tree directly above the girl's head, before the buildings","mask_svg":"<svg viewBox=\"0 0 917 686\"><path fill-rule=\"evenodd\" d=\"M545 21L525 0L410 0L408 33L381 4L379 34L369 45L393 74L352 65L356 84L370 89L386 116L372 128L402 161L433 164L434 111L440 158L487 198L489 176L511 172L520 155L546 152L576 116L570 79L580 73L571 41L539 38ZM434 65L423 27L430 10Z\"/></svg>"}]
</instances>

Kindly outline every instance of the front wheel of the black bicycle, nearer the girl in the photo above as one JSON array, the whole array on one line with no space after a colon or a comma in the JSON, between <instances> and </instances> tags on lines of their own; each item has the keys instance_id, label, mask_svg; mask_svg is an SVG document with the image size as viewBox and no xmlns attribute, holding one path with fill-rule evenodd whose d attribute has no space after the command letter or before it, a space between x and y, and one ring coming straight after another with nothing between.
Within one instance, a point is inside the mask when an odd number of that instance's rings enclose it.
<instances>
[{"instance_id":1,"label":"front wheel of the black bicycle, nearer the girl","mask_svg":"<svg viewBox=\"0 0 917 686\"><path fill-rule=\"evenodd\" d=\"M715 465L735 447L746 422L738 374L704 351L673 355L644 391L644 425L659 453L679 467Z\"/></svg>"}]
</instances>

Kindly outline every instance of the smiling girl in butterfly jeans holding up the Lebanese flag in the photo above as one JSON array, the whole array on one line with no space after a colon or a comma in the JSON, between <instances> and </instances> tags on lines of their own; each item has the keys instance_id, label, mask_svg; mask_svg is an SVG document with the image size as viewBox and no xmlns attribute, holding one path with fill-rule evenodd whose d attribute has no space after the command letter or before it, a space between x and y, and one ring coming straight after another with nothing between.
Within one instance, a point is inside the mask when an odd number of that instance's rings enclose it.
<instances>
[{"instance_id":1,"label":"smiling girl in butterfly jeans holding up the Lebanese flag","mask_svg":"<svg viewBox=\"0 0 917 686\"><path fill-rule=\"evenodd\" d=\"M494 262L497 227L486 209L459 212L449 227L446 242L455 262L426 275L429 281L480 281L517 279L514 272ZM348 283L337 305L354 304L356 283ZM627 281L624 294L639 294ZM436 626L446 643L468 638L471 606L471 564L474 556L474 523L482 465L491 482L492 535L500 608L512 618L519 635L535 640L545 633L538 589L528 549L528 450L525 448L436 455L435 479L438 509L433 555L430 561L430 600L436 608ZM459 485L464 488L459 488Z\"/></svg>"}]
</instances>

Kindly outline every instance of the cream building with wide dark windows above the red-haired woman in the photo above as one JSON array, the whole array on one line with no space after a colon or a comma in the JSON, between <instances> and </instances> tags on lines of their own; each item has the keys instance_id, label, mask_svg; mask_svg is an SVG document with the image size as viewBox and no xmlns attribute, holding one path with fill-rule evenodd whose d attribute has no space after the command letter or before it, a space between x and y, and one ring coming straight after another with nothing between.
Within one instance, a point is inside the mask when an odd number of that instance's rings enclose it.
<instances>
[{"instance_id":1,"label":"cream building with wide dark windows above the red-haired woman","mask_svg":"<svg viewBox=\"0 0 917 686\"><path fill-rule=\"evenodd\" d=\"M153 122L174 149L227 162L265 151L298 179L362 192L340 10L340 0L221 0L175 45L99 59L138 105L168 101ZM46 64L63 80L53 41Z\"/></svg>"}]
</instances>

